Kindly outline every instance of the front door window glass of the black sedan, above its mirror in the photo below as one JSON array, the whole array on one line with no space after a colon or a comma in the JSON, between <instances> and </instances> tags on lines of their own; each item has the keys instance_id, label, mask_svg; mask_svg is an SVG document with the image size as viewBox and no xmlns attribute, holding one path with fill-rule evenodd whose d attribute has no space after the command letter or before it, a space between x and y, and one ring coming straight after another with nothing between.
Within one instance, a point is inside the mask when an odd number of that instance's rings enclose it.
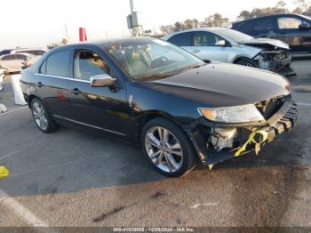
<instances>
[{"instance_id":1,"label":"front door window glass of the black sedan, above its mirror","mask_svg":"<svg viewBox=\"0 0 311 233\"><path fill-rule=\"evenodd\" d=\"M89 81L91 76L109 74L107 63L96 52L77 50L74 60L74 77Z\"/></svg>"}]
</instances>

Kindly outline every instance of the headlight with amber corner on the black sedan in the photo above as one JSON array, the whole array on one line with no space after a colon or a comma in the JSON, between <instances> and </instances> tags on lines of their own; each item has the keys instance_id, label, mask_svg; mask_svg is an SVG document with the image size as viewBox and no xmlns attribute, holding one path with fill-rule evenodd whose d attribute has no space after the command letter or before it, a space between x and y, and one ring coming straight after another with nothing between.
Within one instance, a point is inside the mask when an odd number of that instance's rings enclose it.
<instances>
[{"instance_id":1,"label":"headlight with amber corner on the black sedan","mask_svg":"<svg viewBox=\"0 0 311 233\"><path fill-rule=\"evenodd\" d=\"M252 104L227 108L198 108L198 111L201 116L215 122L243 123L265 120Z\"/></svg>"}]
</instances>

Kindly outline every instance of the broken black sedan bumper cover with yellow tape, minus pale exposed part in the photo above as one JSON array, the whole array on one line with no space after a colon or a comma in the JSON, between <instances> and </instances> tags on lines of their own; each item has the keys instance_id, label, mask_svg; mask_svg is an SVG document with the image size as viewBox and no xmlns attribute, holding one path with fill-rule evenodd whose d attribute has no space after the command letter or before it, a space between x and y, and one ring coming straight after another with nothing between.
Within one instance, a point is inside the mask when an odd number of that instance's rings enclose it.
<instances>
[{"instance_id":1,"label":"broken black sedan bumper cover with yellow tape, minus pale exposed part","mask_svg":"<svg viewBox=\"0 0 311 233\"><path fill-rule=\"evenodd\" d=\"M206 120L200 118L199 124L203 124L206 127L217 127L217 128L232 128L237 129L239 134L243 131L247 131L244 137L238 135L237 138L243 138L240 144L233 148L224 148L219 151L211 149L207 146L206 138L211 135L206 135L196 129L186 129L191 141L194 143L195 149L200 157L203 165L215 165L223 162L232 157L238 157L243 154L259 152L259 149L264 146L267 142L274 141L275 137L281 133L290 131L292 127L296 125L298 116L297 105L292 100L286 100L283 106L271 116L267 121L260 123L248 123L248 124L235 124L235 125L210 125L206 124ZM205 124L203 123L205 122Z\"/></svg>"}]
</instances>

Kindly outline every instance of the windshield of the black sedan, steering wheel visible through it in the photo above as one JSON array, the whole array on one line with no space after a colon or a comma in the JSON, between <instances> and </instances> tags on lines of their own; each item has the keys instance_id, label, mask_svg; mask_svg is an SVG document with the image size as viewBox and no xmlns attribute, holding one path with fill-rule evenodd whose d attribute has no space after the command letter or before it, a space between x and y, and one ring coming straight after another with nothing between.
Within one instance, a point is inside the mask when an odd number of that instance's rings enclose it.
<instances>
[{"instance_id":1,"label":"windshield of the black sedan, steering wheel visible through it","mask_svg":"<svg viewBox=\"0 0 311 233\"><path fill-rule=\"evenodd\" d=\"M172 76L205 64L189 52L158 39L130 40L112 44L107 50L136 80Z\"/></svg>"}]
</instances>

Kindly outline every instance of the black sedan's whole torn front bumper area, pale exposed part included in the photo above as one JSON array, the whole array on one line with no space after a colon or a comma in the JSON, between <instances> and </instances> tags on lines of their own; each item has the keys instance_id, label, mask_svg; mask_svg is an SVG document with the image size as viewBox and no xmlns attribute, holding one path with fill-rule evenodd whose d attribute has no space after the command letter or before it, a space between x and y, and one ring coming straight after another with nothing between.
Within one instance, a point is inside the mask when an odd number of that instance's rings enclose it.
<instances>
[{"instance_id":1,"label":"black sedan's whole torn front bumper area, pale exposed part included","mask_svg":"<svg viewBox=\"0 0 311 233\"><path fill-rule=\"evenodd\" d=\"M256 152L275 136L296 125L297 105L285 100L266 121L243 124L217 124L200 117L185 128L203 165L215 165L232 157Z\"/></svg>"}]
</instances>

